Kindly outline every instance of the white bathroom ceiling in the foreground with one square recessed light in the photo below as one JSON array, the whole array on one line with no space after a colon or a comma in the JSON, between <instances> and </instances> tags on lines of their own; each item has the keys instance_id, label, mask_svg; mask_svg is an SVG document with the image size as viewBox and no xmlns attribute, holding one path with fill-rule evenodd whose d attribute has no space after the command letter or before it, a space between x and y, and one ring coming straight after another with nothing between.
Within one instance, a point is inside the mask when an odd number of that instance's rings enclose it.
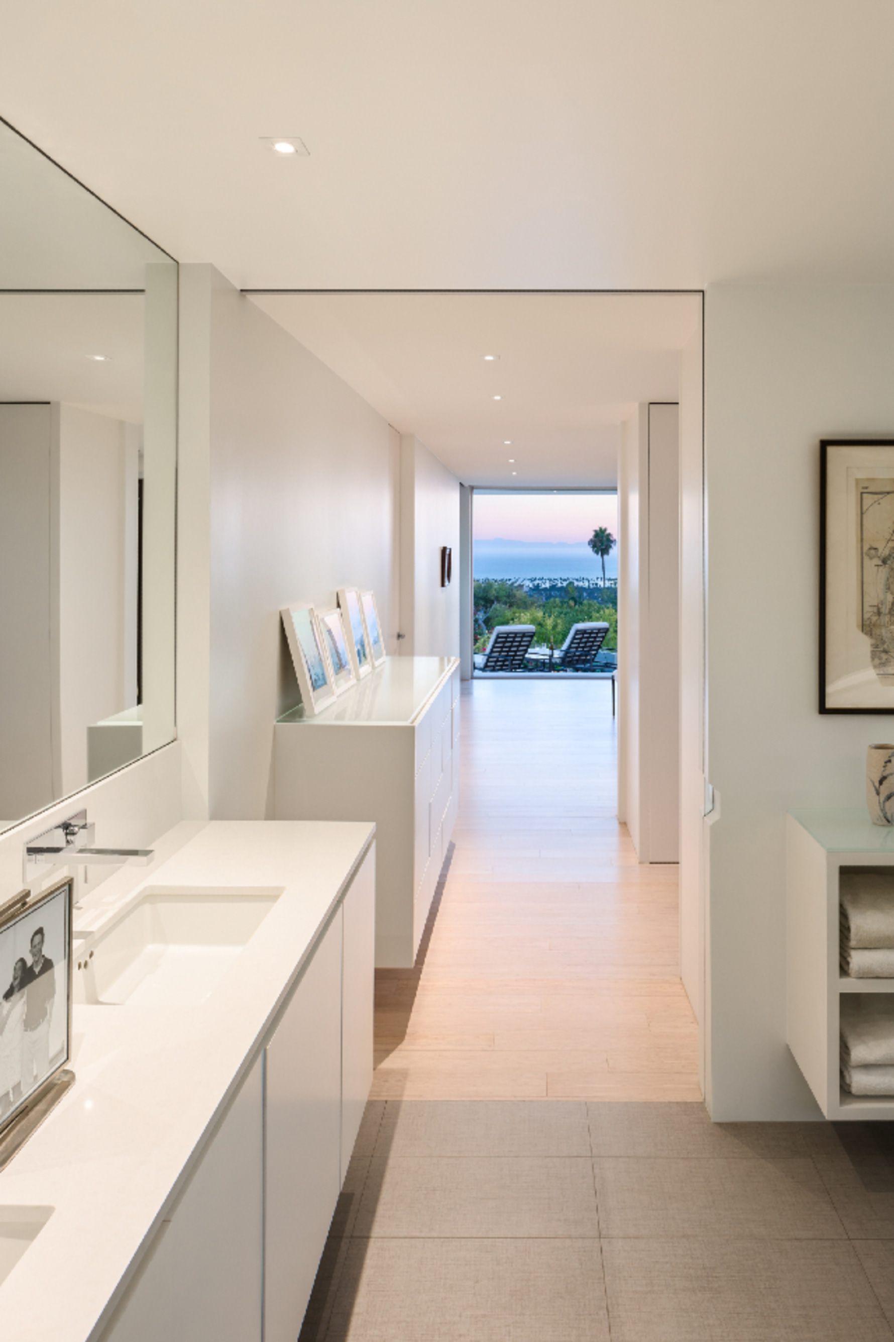
<instances>
[{"instance_id":1,"label":"white bathroom ceiling in the foreground with one square recessed light","mask_svg":"<svg viewBox=\"0 0 894 1342\"><path fill-rule=\"evenodd\" d=\"M890 0L44 0L0 111L241 286L878 279L893 68Z\"/></svg>"}]
</instances>

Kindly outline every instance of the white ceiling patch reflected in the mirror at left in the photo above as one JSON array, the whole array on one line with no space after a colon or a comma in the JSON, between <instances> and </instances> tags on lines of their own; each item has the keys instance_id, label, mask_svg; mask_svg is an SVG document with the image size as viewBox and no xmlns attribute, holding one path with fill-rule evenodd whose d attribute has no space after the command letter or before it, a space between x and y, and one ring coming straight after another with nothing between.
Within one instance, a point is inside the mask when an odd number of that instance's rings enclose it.
<instances>
[{"instance_id":1,"label":"white ceiling patch reflected in the mirror at left","mask_svg":"<svg viewBox=\"0 0 894 1342\"><path fill-rule=\"evenodd\" d=\"M0 294L0 401L142 423L143 306L142 294Z\"/></svg>"}]
</instances>

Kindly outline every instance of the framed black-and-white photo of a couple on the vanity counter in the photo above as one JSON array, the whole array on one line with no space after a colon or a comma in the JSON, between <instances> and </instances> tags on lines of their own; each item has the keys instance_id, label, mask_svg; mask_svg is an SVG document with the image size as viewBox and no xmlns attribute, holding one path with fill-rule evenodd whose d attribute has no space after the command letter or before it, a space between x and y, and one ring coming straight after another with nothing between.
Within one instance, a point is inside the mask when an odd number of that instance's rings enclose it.
<instances>
[{"instance_id":1,"label":"framed black-and-white photo of a couple on the vanity counter","mask_svg":"<svg viewBox=\"0 0 894 1342\"><path fill-rule=\"evenodd\" d=\"M0 1137L71 1057L71 892L67 879L0 909Z\"/></svg>"}]
</instances>

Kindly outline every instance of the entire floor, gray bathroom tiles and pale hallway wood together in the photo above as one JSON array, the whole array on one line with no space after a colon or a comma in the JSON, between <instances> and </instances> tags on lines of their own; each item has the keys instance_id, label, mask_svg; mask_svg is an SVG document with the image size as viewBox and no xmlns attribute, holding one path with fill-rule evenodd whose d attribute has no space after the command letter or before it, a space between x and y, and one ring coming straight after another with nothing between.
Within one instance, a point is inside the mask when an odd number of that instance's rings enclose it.
<instances>
[{"instance_id":1,"label":"entire floor, gray bathroom tiles and pale hallway wood together","mask_svg":"<svg viewBox=\"0 0 894 1342\"><path fill-rule=\"evenodd\" d=\"M610 687L476 683L300 1342L894 1342L887 1125L712 1123ZM650 1103L663 1100L663 1103Z\"/></svg>"}]
</instances>

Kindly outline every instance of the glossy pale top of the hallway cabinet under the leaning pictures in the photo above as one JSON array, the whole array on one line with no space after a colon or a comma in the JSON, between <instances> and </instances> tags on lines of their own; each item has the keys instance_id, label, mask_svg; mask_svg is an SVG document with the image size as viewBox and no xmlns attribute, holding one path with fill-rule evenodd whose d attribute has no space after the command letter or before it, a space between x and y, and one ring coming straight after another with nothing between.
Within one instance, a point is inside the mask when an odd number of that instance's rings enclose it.
<instances>
[{"instance_id":1,"label":"glossy pale top of the hallway cabinet under the leaning pictures","mask_svg":"<svg viewBox=\"0 0 894 1342\"><path fill-rule=\"evenodd\" d=\"M294 709L279 722L302 727L361 722L410 726L458 664L458 658L386 658L322 713L306 718L302 709Z\"/></svg>"}]
</instances>

